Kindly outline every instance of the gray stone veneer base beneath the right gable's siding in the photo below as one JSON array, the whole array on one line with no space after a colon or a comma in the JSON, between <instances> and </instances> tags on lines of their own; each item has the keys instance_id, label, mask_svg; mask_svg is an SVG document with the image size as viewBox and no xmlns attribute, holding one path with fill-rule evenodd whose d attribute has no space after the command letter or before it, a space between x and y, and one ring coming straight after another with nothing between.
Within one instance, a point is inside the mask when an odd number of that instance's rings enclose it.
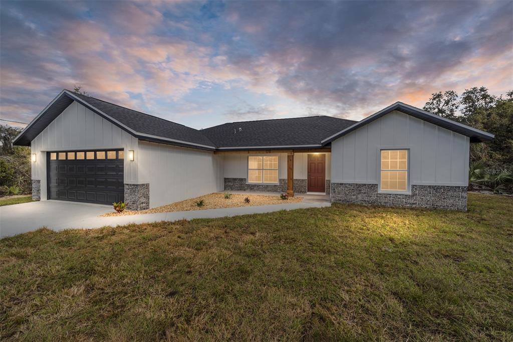
<instances>
[{"instance_id":1,"label":"gray stone veneer base beneath the right gable's siding","mask_svg":"<svg viewBox=\"0 0 513 342\"><path fill-rule=\"evenodd\" d=\"M411 194L381 194L378 184L331 183L331 201L467 211L467 187L411 185Z\"/></svg>"}]
</instances>

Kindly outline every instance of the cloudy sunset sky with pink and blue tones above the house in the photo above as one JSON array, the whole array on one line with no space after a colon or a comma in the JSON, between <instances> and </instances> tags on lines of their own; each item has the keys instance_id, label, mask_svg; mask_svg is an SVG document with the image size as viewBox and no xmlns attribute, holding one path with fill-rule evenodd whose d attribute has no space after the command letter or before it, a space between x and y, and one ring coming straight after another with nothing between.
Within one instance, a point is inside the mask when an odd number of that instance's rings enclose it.
<instances>
[{"instance_id":1,"label":"cloudy sunset sky with pink and blue tones above the house","mask_svg":"<svg viewBox=\"0 0 513 342\"><path fill-rule=\"evenodd\" d=\"M0 1L0 118L74 85L198 129L505 94L513 2Z\"/></svg>"}]
</instances>

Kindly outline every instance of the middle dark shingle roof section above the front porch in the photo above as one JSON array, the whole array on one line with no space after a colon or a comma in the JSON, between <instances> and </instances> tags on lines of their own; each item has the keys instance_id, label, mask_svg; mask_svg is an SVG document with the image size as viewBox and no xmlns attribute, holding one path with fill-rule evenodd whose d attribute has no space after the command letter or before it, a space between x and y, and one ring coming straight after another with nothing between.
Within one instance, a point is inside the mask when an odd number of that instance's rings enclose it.
<instances>
[{"instance_id":1,"label":"middle dark shingle roof section above the front porch","mask_svg":"<svg viewBox=\"0 0 513 342\"><path fill-rule=\"evenodd\" d=\"M230 122L203 129L216 147L320 145L356 121L327 116Z\"/></svg>"}]
</instances>

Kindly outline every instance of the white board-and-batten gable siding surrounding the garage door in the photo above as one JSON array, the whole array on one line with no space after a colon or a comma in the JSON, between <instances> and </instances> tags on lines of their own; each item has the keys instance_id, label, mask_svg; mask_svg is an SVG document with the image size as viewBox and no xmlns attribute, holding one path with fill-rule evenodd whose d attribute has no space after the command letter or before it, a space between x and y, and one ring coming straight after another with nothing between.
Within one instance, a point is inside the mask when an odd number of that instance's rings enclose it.
<instances>
[{"instance_id":1,"label":"white board-and-batten gable siding surrounding the garage door","mask_svg":"<svg viewBox=\"0 0 513 342\"><path fill-rule=\"evenodd\" d=\"M122 148L137 151L137 138L110 121L87 109L71 103L31 142L31 153L36 154L32 163L32 179L41 180L41 199L47 199L47 152L66 150ZM124 182L138 183L137 158L124 163Z\"/></svg>"}]
</instances>

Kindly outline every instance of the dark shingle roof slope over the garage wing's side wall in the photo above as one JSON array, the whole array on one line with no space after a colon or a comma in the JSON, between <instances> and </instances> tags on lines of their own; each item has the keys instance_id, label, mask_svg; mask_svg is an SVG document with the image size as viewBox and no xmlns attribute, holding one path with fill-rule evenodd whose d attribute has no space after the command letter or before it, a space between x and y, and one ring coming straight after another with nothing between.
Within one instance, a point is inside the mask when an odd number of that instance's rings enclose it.
<instances>
[{"instance_id":1,"label":"dark shingle roof slope over the garage wing's side wall","mask_svg":"<svg viewBox=\"0 0 513 342\"><path fill-rule=\"evenodd\" d=\"M100 109L111 118L121 122L136 132L214 147L214 143L198 129L157 118L140 111L118 106L83 94L73 93L73 95L86 101L91 106Z\"/></svg>"}]
</instances>

